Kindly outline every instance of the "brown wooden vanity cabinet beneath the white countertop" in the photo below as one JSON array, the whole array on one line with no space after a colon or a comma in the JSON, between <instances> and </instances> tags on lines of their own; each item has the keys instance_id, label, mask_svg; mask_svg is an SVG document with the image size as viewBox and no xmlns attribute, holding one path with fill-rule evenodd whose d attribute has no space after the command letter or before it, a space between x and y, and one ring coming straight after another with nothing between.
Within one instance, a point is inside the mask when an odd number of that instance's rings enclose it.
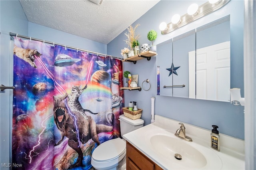
<instances>
[{"instance_id":1,"label":"brown wooden vanity cabinet beneath the white countertop","mask_svg":"<svg viewBox=\"0 0 256 170\"><path fill-rule=\"evenodd\" d=\"M162 168L126 141L126 170L162 170Z\"/></svg>"}]
</instances>

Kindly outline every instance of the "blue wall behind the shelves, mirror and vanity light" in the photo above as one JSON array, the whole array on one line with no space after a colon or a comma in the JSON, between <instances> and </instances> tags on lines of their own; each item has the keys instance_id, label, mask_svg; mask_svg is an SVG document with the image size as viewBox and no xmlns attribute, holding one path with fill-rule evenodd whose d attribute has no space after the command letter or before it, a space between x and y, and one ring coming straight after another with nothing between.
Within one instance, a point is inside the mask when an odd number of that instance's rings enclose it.
<instances>
[{"instance_id":1,"label":"blue wall behind the shelves, mirror and vanity light","mask_svg":"<svg viewBox=\"0 0 256 170\"><path fill-rule=\"evenodd\" d=\"M198 2L199 5L206 1ZM231 41L231 88L241 89L241 95L244 97L244 77L243 77L243 24L244 24L244 2L231 0L220 10L204 16L174 32L167 35L161 35L158 26L161 22L169 23L171 17L179 13L181 16L186 13L186 9L191 1L185 0L162 0L151 8L144 16L134 22L133 26L140 24L136 31L141 35L139 42L149 43L147 33L150 30L156 30L158 37L154 45L169 40L180 34L188 32L227 16L230 14L230 41ZM127 47L123 40L126 39L124 30L112 42L107 45L108 55L120 56L120 50ZM198 99L185 99L179 97L164 97L156 95L156 57L150 61L139 60L136 65L124 62L124 71L128 70L132 74L139 74L138 84L141 86L142 81L150 79L151 89L149 91L125 91L125 104L129 101L137 101L137 107L143 109L142 119L145 124L150 123L151 101L152 96L155 100L155 114L175 119L184 123L189 123L198 127L211 129L212 125L218 125L220 133L227 134L236 138L244 139L244 107L233 106L228 102L206 101ZM179 127L177 125L177 127Z\"/></svg>"}]
</instances>

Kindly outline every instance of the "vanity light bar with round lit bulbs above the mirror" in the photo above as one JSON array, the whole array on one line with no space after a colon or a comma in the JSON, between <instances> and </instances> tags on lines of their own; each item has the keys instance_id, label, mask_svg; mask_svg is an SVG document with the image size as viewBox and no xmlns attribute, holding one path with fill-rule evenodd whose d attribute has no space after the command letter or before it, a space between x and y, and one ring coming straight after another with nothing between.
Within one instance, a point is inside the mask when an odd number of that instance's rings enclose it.
<instances>
[{"instance_id":1,"label":"vanity light bar with round lit bulbs above the mirror","mask_svg":"<svg viewBox=\"0 0 256 170\"><path fill-rule=\"evenodd\" d=\"M180 16L179 19L178 19L178 14L175 14L172 17L172 22L170 22L169 24L166 24L166 26L161 23L159 26L159 29L161 30L161 33L163 35L168 34L170 32L173 32L174 30L177 30L178 28L181 28L182 26L185 26L199 18L202 18L203 16L206 16L222 8L224 5L228 4L228 2L230 2L230 0L209 0L206 3L200 5L199 7L198 5L196 7L195 4L191 4L188 7L187 14Z\"/></svg>"}]
</instances>

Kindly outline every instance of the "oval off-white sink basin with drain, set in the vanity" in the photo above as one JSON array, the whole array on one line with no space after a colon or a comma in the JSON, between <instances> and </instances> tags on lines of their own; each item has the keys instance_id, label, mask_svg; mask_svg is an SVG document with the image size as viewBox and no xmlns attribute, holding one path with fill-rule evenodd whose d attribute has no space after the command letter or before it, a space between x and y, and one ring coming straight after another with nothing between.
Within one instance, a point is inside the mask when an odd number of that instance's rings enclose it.
<instances>
[{"instance_id":1,"label":"oval off-white sink basin with drain, set in the vanity","mask_svg":"<svg viewBox=\"0 0 256 170\"><path fill-rule=\"evenodd\" d=\"M187 142L164 130L150 130L145 134L146 144L162 159L172 164L174 169L221 169L222 162L210 148ZM194 140L194 139L193 139ZM180 157L175 158L175 154Z\"/></svg>"}]
</instances>

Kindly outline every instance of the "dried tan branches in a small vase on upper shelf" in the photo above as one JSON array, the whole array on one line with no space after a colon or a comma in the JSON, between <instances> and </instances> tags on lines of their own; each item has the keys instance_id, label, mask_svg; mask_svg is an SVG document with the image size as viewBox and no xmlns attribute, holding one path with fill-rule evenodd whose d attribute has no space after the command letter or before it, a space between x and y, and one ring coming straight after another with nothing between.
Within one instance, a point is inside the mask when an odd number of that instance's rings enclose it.
<instances>
[{"instance_id":1,"label":"dried tan branches in a small vase on upper shelf","mask_svg":"<svg viewBox=\"0 0 256 170\"><path fill-rule=\"evenodd\" d=\"M138 26L140 26L140 24L137 24L134 28L133 28L132 26L129 26L129 27L127 28L128 33L127 33L127 32L125 33L127 39L124 40L124 41L125 41L126 44L128 45L128 48L130 48L130 50L133 50L133 48L134 48L135 46L138 46L138 45L139 45L138 39L140 38L140 34L137 34L136 31L135 31L136 28L138 28ZM130 56L129 56L129 54L128 54L128 57L134 56L134 53L133 53L132 56L131 56L131 55L132 55L132 53L130 53Z\"/></svg>"}]
</instances>

